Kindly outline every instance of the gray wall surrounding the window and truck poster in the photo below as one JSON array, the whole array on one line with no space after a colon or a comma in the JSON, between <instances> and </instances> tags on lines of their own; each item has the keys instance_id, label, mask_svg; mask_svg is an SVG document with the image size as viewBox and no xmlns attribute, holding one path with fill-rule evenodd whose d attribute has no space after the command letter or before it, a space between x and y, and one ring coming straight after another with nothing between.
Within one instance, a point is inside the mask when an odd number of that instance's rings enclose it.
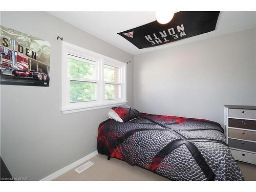
<instances>
[{"instance_id":1,"label":"gray wall surrounding the window and truck poster","mask_svg":"<svg viewBox=\"0 0 256 192\"><path fill-rule=\"evenodd\" d=\"M133 105L133 56L46 12L1 12L1 25L51 44L50 87L1 86L1 157L13 177L40 180L97 150L109 108L62 114L61 41L126 62L127 101Z\"/></svg>"}]
</instances>

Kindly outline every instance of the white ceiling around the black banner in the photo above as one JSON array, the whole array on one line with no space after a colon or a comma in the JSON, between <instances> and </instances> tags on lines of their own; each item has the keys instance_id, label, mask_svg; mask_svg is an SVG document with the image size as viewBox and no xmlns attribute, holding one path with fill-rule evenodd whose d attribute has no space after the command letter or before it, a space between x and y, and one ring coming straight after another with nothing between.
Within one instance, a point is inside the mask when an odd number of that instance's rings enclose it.
<instances>
[{"instance_id":1,"label":"white ceiling around the black banner","mask_svg":"<svg viewBox=\"0 0 256 192\"><path fill-rule=\"evenodd\" d=\"M215 31L167 45L138 49L117 33L153 22L156 20L155 12L51 11L48 13L133 55L251 29L255 27L256 16L255 12L249 11L221 11Z\"/></svg>"}]
</instances>

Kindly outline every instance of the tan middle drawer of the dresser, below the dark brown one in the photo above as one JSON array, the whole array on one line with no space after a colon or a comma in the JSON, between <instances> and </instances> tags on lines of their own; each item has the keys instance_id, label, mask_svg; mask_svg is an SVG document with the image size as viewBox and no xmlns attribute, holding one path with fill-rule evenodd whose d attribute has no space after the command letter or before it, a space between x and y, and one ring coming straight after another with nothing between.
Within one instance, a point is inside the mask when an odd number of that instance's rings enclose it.
<instances>
[{"instance_id":1,"label":"tan middle drawer of the dresser, below the dark brown one","mask_svg":"<svg viewBox=\"0 0 256 192\"><path fill-rule=\"evenodd\" d=\"M256 141L256 132L228 129L228 137Z\"/></svg>"}]
</instances>

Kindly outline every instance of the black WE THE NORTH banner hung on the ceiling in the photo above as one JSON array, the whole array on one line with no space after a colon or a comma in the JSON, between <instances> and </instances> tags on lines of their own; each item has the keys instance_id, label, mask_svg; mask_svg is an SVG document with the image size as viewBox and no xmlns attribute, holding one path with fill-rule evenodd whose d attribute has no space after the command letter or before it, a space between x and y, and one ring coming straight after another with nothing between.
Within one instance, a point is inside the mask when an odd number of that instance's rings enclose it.
<instances>
[{"instance_id":1,"label":"black WE THE NORTH banner hung on the ceiling","mask_svg":"<svg viewBox=\"0 0 256 192\"><path fill-rule=\"evenodd\" d=\"M118 33L139 49L155 47L216 29L220 11L180 11L167 24L154 22Z\"/></svg>"}]
</instances>

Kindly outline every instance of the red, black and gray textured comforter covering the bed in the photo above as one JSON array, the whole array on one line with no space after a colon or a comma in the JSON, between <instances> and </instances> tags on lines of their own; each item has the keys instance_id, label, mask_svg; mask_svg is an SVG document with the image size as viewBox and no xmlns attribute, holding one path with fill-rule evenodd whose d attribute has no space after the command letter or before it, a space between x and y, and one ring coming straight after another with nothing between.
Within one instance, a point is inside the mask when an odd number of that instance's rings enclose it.
<instances>
[{"instance_id":1,"label":"red, black and gray textured comforter covering the bed","mask_svg":"<svg viewBox=\"0 0 256 192\"><path fill-rule=\"evenodd\" d=\"M117 113L120 108L114 109ZM219 123L139 113L99 125L98 153L176 181L242 181ZM121 110L122 111L122 110Z\"/></svg>"}]
</instances>

